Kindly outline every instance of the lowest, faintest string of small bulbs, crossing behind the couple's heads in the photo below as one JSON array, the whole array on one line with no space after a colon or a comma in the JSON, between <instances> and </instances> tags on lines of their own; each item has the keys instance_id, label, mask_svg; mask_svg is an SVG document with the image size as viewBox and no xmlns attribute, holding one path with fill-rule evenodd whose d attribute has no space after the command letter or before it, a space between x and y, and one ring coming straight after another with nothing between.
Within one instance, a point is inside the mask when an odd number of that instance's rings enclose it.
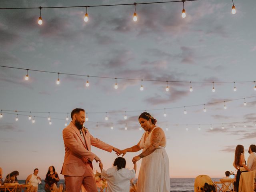
<instances>
[{"instance_id":1,"label":"lowest, faintest string of small bulbs, crossing behind the couple's heads","mask_svg":"<svg viewBox=\"0 0 256 192\"><path fill-rule=\"evenodd\" d=\"M11 114L11 115L14 115L16 116L16 119L18 118L18 116L27 116L25 114L19 114L19 113L10 113L10 112L5 112L5 114ZM33 120L35 120L35 118L42 118L42 119L47 119L47 117L44 117L44 116L33 116ZM15 119L15 120L16 120ZM62 120L61 118L51 118L51 120ZM18 121L18 120L16 120ZM32 122L33 123L33 122ZM66 123L66 122L65 122ZM114 125L125 125L127 128L128 126L138 126L139 127L139 124L138 123L121 123L121 122L95 122L95 121L88 121L86 122L86 124L105 124L105 125L108 125L109 127L114 127ZM232 128L236 128L237 126L243 124L243 127L246 128L248 126L248 124L250 123L253 123L254 126L256 126L256 120L255 121L239 121L239 122L220 122L220 123L203 123L203 124L166 124L166 123L158 123L158 125L161 125L161 126L173 126L173 127L177 127L177 126L186 126L186 128L188 128L188 126L197 126L200 127L200 126L209 126L209 128L212 130L212 128L216 128L216 126L220 126L220 128L222 128L224 125L227 125L227 126L231 126L232 125ZM214 126L213 126L214 125ZM227 127L226 126L226 127ZM224 127L225 128L225 127Z\"/></svg>"}]
</instances>

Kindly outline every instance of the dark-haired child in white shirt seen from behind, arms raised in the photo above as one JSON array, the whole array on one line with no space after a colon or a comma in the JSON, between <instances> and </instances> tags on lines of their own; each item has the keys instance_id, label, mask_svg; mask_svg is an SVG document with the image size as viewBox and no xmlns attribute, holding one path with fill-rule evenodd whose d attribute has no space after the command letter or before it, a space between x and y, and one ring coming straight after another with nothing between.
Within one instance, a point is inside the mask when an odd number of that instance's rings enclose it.
<instances>
[{"instance_id":1,"label":"dark-haired child in white shirt seen from behind, arms raised","mask_svg":"<svg viewBox=\"0 0 256 192\"><path fill-rule=\"evenodd\" d=\"M126 169L125 158L118 157L115 159L113 167L108 170L103 169L103 164L100 163L101 178L108 182L108 192L129 192L130 180L135 178L136 162L132 170Z\"/></svg>"}]
</instances>

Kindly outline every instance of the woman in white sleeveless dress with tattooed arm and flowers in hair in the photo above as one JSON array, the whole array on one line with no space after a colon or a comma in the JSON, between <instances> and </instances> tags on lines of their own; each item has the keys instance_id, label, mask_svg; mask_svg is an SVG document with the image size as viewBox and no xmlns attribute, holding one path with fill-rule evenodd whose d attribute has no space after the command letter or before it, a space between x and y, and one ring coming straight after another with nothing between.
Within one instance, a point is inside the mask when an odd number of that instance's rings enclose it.
<instances>
[{"instance_id":1,"label":"woman in white sleeveless dress with tattooed arm and flowers in hair","mask_svg":"<svg viewBox=\"0 0 256 192\"><path fill-rule=\"evenodd\" d=\"M156 119L144 112L139 116L140 126L145 130L140 142L122 150L142 153L135 156L132 162L142 159L138 176L137 192L170 192L169 158L165 150L166 136L162 128L156 126Z\"/></svg>"}]
</instances>

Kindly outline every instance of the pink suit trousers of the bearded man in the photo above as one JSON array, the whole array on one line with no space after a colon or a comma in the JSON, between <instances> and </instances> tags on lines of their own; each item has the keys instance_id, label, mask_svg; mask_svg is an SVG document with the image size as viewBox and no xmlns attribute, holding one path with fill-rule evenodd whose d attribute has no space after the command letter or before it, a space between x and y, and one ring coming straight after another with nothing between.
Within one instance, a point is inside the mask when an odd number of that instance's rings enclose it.
<instances>
[{"instance_id":1,"label":"pink suit trousers of the bearded man","mask_svg":"<svg viewBox=\"0 0 256 192\"><path fill-rule=\"evenodd\" d=\"M64 175L66 192L80 192L83 185L87 192L98 192L96 180L92 169L92 162L87 163L86 171L83 176L67 176Z\"/></svg>"}]
</instances>

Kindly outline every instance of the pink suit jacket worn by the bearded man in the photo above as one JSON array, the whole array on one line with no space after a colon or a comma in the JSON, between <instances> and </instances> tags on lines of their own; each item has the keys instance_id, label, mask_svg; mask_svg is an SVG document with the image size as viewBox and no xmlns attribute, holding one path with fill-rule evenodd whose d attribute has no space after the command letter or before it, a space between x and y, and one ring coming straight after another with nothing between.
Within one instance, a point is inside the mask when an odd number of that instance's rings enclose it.
<instances>
[{"instance_id":1,"label":"pink suit jacket worn by the bearded man","mask_svg":"<svg viewBox=\"0 0 256 192\"><path fill-rule=\"evenodd\" d=\"M60 173L63 175L84 175L86 164L91 164L96 156L91 152L91 145L108 152L113 150L113 146L94 138L88 130L85 133L82 129L82 133L85 142L73 122L70 122L70 124L62 131L65 146L65 158Z\"/></svg>"}]
</instances>

